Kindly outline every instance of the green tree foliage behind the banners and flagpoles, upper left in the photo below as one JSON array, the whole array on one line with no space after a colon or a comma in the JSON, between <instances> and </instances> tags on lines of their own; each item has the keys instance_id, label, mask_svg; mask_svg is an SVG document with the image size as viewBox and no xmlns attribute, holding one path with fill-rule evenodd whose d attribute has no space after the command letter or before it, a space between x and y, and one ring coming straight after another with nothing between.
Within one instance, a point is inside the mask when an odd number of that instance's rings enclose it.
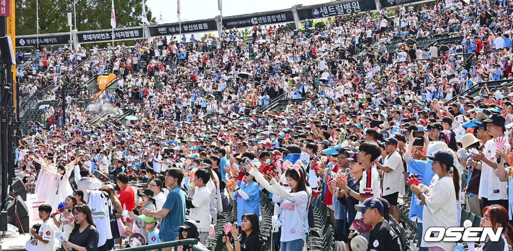
<instances>
[{"instance_id":1,"label":"green tree foliage behind the banners and flagpoles, upper left","mask_svg":"<svg viewBox=\"0 0 513 251\"><path fill-rule=\"evenodd\" d=\"M39 32L69 32L67 13L73 13L73 0L17 0L16 34L36 34L36 1L39 10ZM74 0L76 28L78 31L110 29L111 0ZM147 0L145 0L146 2ZM141 0L114 0L116 27L141 25ZM146 17L155 22L155 17L146 5Z\"/></svg>"}]
</instances>

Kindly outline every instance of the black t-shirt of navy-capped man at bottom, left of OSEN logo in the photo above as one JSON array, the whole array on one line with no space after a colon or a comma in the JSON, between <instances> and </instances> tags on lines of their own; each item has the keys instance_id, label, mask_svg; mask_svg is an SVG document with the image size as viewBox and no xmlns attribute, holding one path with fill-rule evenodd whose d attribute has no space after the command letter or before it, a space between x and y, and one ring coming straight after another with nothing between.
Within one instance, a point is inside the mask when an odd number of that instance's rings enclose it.
<instances>
[{"instance_id":1,"label":"black t-shirt of navy-capped man at bottom, left of OSEN logo","mask_svg":"<svg viewBox=\"0 0 513 251\"><path fill-rule=\"evenodd\" d=\"M369 235L369 251L385 251L385 250L401 250L401 243L399 236L388 224L387 221L382 220L372 228Z\"/></svg>"}]
</instances>

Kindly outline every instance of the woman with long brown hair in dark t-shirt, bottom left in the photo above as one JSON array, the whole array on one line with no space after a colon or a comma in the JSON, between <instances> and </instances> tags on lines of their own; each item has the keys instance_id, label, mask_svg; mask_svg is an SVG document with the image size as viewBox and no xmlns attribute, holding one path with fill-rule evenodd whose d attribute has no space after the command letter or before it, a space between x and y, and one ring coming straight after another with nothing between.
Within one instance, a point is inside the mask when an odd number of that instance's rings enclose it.
<instances>
[{"instance_id":1,"label":"woman with long brown hair in dark t-shirt, bottom left","mask_svg":"<svg viewBox=\"0 0 513 251\"><path fill-rule=\"evenodd\" d=\"M64 239L64 247L76 251L96 251L98 248L98 231L94 225L91 210L84 204L73 207L75 226L68 240Z\"/></svg>"}]
</instances>

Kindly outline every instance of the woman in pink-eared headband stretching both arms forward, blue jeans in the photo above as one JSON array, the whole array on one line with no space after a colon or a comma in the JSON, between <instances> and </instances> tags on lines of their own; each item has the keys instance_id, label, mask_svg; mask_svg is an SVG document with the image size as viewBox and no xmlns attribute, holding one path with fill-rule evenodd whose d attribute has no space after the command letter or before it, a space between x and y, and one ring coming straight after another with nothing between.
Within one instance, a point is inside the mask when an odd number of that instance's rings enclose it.
<instances>
[{"instance_id":1,"label":"woman in pink-eared headband stretching both arms forward, blue jeans","mask_svg":"<svg viewBox=\"0 0 513 251\"><path fill-rule=\"evenodd\" d=\"M280 250L295 251L303 249L306 242L306 219L309 204L305 171L301 167L287 169L285 178L288 187L291 189L290 191L284 189L276 179L270 176L264 178L254 166L251 167L249 174L253 175L270 193L273 193L273 202L281 202L278 216L282 229Z\"/></svg>"}]
</instances>

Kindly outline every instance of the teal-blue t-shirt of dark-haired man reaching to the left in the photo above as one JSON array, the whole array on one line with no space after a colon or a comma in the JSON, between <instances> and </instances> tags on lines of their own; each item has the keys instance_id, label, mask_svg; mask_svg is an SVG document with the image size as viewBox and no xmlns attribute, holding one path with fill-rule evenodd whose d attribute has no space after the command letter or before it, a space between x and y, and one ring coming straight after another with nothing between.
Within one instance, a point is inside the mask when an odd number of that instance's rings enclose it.
<instances>
[{"instance_id":1,"label":"teal-blue t-shirt of dark-haired man reaching to the left","mask_svg":"<svg viewBox=\"0 0 513 251\"><path fill-rule=\"evenodd\" d=\"M179 234L177 227L185 222L185 193L180 186L175 186L167 195L162 206L169 213L162 218L159 238L163 241L174 241Z\"/></svg>"}]
</instances>

